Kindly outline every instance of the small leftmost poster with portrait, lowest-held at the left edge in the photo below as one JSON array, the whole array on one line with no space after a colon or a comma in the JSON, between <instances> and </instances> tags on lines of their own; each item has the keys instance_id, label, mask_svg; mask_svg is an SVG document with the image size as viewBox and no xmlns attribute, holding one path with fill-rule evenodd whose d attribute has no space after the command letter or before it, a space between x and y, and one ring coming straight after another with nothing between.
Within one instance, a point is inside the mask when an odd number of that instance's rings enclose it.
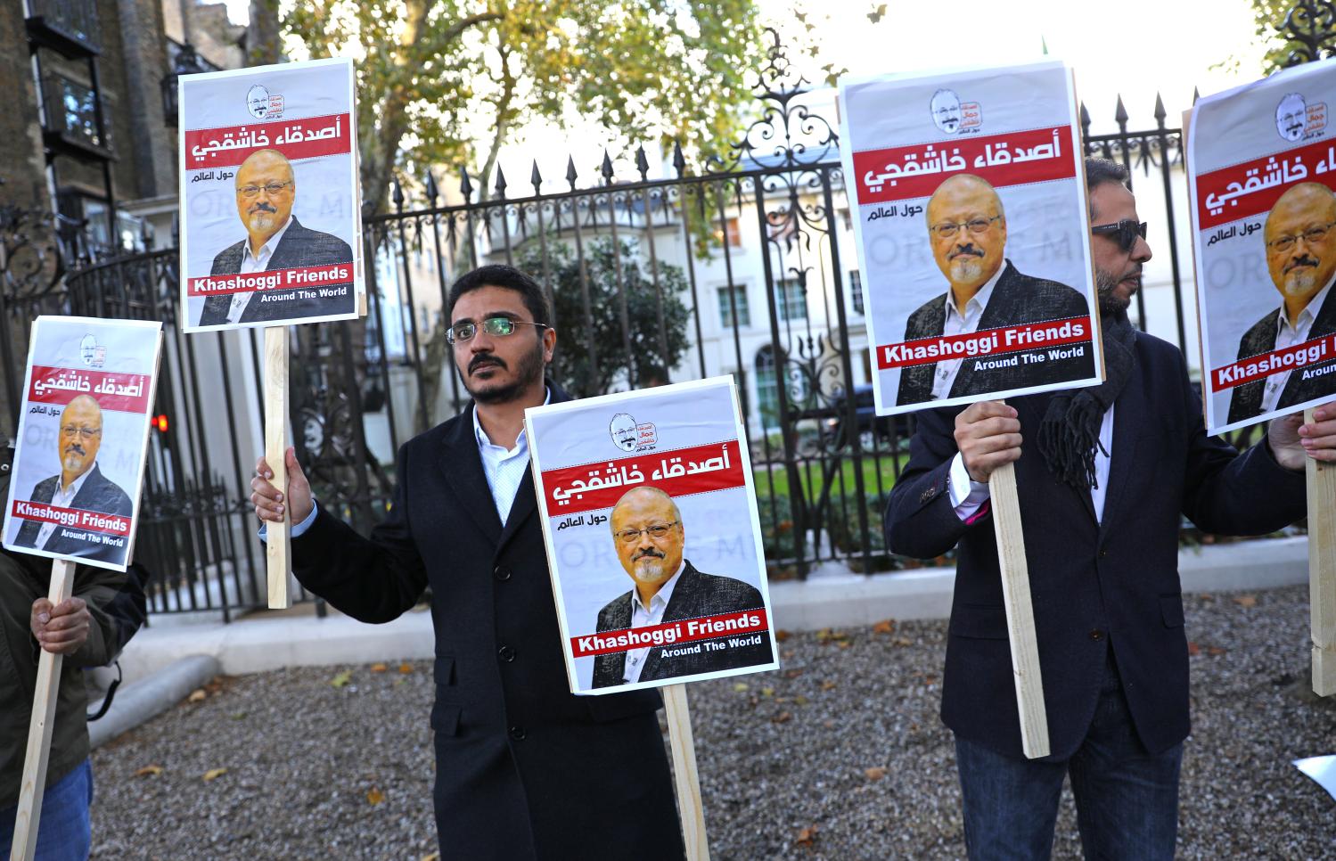
<instances>
[{"instance_id":1,"label":"small leftmost poster with portrait, lowest-held at the left edge","mask_svg":"<svg viewBox=\"0 0 1336 861\"><path fill-rule=\"evenodd\" d=\"M116 571L130 566L160 349L160 322L33 322L7 549Z\"/></svg>"}]
</instances>

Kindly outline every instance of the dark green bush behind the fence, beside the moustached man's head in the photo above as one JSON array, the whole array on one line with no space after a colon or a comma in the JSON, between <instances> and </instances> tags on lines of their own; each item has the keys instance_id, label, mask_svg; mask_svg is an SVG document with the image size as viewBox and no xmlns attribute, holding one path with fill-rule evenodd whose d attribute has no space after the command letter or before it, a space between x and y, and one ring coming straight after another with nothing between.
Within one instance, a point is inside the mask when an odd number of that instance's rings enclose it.
<instances>
[{"instance_id":1,"label":"dark green bush behind the fence, beside the moustached man's head","mask_svg":"<svg viewBox=\"0 0 1336 861\"><path fill-rule=\"evenodd\" d=\"M564 242L548 242L546 266L558 333L553 372L561 385L576 397L608 392L613 380L624 378L628 364L635 368L637 384L651 376L663 377L664 369L676 365L688 346L689 313L681 298L687 291L687 278L681 269L660 262L656 293L653 273L648 267L641 267L636 246L627 239L621 239L619 246L621 295L625 295L629 324L631 362L627 360L627 340L621 324L623 299L617 289L619 261L613 255L612 237L597 237L584 246L585 275L589 283L588 317L576 251ZM520 249L516 265L541 277L544 271L541 246L533 241L525 243ZM663 333L660 333L660 318ZM589 352L591 333L593 354ZM667 354L663 350L664 340L668 344Z\"/></svg>"}]
</instances>

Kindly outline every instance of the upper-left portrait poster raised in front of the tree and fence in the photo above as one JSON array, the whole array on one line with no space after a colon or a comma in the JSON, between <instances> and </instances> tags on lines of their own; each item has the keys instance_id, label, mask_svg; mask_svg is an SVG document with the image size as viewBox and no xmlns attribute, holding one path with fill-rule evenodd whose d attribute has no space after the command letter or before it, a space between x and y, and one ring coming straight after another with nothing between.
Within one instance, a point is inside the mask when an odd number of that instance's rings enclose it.
<instances>
[{"instance_id":1,"label":"upper-left portrait poster raised in front of the tree and fence","mask_svg":"<svg viewBox=\"0 0 1336 861\"><path fill-rule=\"evenodd\" d=\"M358 316L353 62L183 75L182 326Z\"/></svg>"}]
</instances>

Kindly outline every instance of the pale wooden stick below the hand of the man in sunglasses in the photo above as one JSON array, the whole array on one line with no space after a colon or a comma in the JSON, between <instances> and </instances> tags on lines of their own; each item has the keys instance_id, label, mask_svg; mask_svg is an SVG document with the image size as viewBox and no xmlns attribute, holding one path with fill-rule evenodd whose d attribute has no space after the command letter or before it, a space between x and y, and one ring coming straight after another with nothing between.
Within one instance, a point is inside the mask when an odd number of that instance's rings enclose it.
<instances>
[{"instance_id":1,"label":"pale wooden stick below the hand of the man in sunglasses","mask_svg":"<svg viewBox=\"0 0 1336 861\"><path fill-rule=\"evenodd\" d=\"M993 471L989 495L993 499L993 527L998 536L1006 630L1011 640L1015 706L1021 714L1021 747L1027 758L1035 759L1049 755L1049 718L1043 711L1043 679L1039 676L1039 647L1034 638L1030 568L1025 560L1025 536L1021 532L1015 464Z\"/></svg>"}]
</instances>

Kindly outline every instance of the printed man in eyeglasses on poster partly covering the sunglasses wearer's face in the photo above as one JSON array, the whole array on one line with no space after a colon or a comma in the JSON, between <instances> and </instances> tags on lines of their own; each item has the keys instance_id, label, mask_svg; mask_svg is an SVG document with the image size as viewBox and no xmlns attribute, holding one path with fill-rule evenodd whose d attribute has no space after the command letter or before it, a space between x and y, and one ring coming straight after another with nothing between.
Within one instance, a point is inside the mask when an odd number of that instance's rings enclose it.
<instances>
[{"instance_id":1,"label":"printed man in eyeglasses on poster partly covering the sunglasses wearer's face","mask_svg":"<svg viewBox=\"0 0 1336 861\"><path fill-rule=\"evenodd\" d=\"M946 179L929 198L929 241L933 258L950 289L910 314L904 340L970 334L1003 326L1088 317L1083 295L1055 281L1017 271L1003 257L1006 213L993 186L973 174ZM990 357L962 357L900 372L896 404L922 404L1001 389L1021 389L1094 376L1094 354L1077 350L1066 358L1027 362L1021 350L1017 366L991 366Z\"/></svg>"}]
</instances>

